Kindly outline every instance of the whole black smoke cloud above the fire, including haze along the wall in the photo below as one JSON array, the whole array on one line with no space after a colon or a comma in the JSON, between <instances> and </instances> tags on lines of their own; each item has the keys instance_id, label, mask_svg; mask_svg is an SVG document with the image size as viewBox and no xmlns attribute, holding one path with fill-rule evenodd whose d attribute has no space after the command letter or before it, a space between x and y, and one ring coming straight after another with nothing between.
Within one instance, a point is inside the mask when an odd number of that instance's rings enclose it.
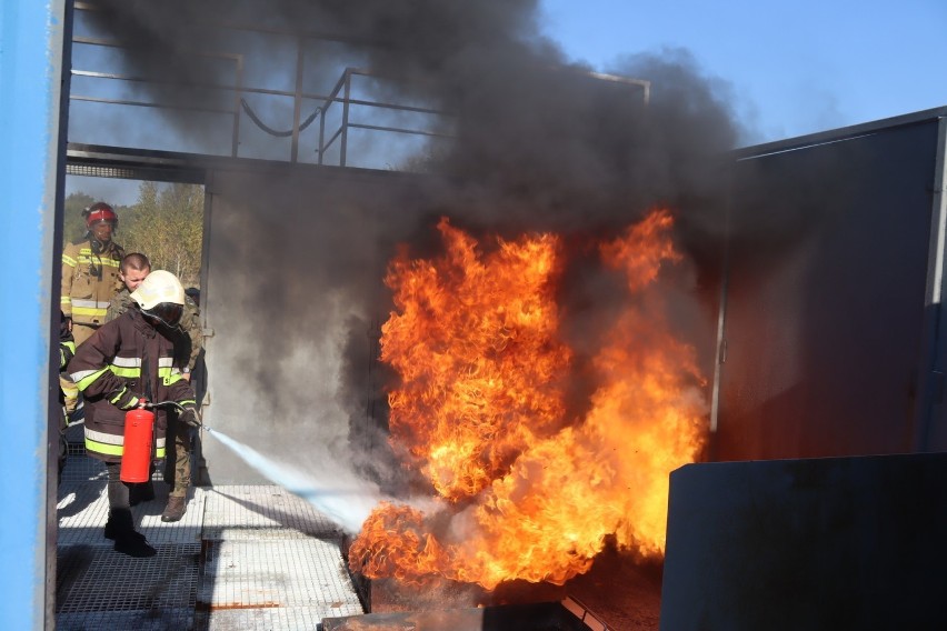
<instances>
[{"instance_id":1,"label":"whole black smoke cloud above the fire, including haze along the wall","mask_svg":"<svg viewBox=\"0 0 947 631\"><path fill-rule=\"evenodd\" d=\"M292 89L297 49L290 33L318 42L307 48L303 91L326 93L342 68L362 67L385 78L367 83L373 98L445 113L435 131L450 140L422 146L409 160L429 173L423 184L390 178L398 192L371 208L365 192L333 199L328 246L309 247L311 239L297 229L305 222L292 213L309 210L291 191L292 182L305 179L298 172L275 178L266 204L248 210L242 227L228 219L233 222L228 237L215 244L232 261L252 259L251 272L241 271L242 263L233 271L242 274L241 293L252 301L242 317L267 332L267 357L291 355L299 339L319 331L321 317L330 318L320 307L326 297L341 296L339 302L361 297L362 313L346 320L340 367L340 392L353 415L366 407L383 408L380 381L391 378L365 369L371 361L366 352L376 343L371 335L390 310L381 286L385 266L400 242L419 252L436 246L426 240L440 214L481 234L602 236L666 206L677 214L678 239L696 263L698 291L714 287L730 184L728 152L739 127L727 84L706 76L686 50L631 52L608 69L615 77L595 76L542 34L537 0L99 0L94 6L84 19L92 34L126 46L121 71L150 78L136 89L173 106L161 110L168 134L199 138L207 129L195 110L236 107L233 90L221 88L232 86L228 56L233 51L243 56L246 82ZM634 31L628 48L635 50ZM291 128L290 104L249 100L272 128ZM246 119L243 124L249 127ZM241 196L250 200L253 186L247 187ZM239 207L239 200L232 203ZM339 210L347 203L357 209ZM299 250L306 250L305 258ZM611 287L594 273L579 270L568 279L562 299L574 302L567 309L574 318L566 327L569 337L597 325L584 306L608 300L596 294ZM211 301L213 291L211 282ZM252 348L238 357L253 367L261 384L257 395L272 417L288 415L280 410L298 393L286 395L280 368L259 361L260 354Z\"/></svg>"}]
</instances>

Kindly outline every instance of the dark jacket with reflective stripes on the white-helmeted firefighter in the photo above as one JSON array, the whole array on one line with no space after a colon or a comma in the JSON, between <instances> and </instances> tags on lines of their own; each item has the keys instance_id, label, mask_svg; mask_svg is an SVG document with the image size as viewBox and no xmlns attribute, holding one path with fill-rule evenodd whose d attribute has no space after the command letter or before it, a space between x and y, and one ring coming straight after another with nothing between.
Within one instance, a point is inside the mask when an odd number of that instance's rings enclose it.
<instances>
[{"instance_id":1,"label":"dark jacket with reflective stripes on the white-helmeted firefighter","mask_svg":"<svg viewBox=\"0 0 947 631\"><path fill-rule=\"evenodd\" d=\"M173 344L134 307L100 327L76 349L69 375L86 400L86 451L106 462L121 460L124 413L139 399L195 407L195 394L175 367ZM154 410L154 458L165 458L168 418Z\"/></svg>"}]
</instances>

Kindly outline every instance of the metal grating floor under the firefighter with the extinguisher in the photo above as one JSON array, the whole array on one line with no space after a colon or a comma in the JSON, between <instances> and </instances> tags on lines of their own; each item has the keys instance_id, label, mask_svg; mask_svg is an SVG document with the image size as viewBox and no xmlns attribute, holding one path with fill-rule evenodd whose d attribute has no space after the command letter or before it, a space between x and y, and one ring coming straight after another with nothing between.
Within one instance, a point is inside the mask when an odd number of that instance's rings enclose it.
<instances>
[{"instance_id":1,"label":"metal grating floor under the firefighter with the extinguisher","mask_svg":"<svg viewBox=\"0 0 947 631\"><path fill-rule=\"evenodd\" d=\"M156 480L156 499L132 513L158 554L119 554L102 535L104 468L70 444L57 505L57 629L316 629L363 613L342 533L305 500L275 485L195 488L185 518L165 523L168 485Z\"/></svg>"}]
</instances>

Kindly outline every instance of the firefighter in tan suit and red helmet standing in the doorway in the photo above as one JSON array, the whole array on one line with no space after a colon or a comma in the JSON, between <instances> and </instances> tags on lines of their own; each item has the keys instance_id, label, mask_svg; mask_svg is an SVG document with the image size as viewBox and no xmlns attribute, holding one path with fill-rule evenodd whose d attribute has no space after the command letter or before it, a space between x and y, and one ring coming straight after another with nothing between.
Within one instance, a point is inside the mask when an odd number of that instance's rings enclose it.
<instances>
[{"instance_id":1,"label":"firefighter in tan suit and red helmet standing in the doorway","mask_svg":"<svg viewBox=\"0 0 947 631\"><path fill-rule=\"evenodd\" d=\"M60 306L78 347L106 321L109 301L122 287L119 266L124 252L112 241L118 214L106 202L97 202L82 211L86 236L62 251ZM76 385L60 379L66 412L72 414L79 404Z\"/></svg>"}]
</instances>

